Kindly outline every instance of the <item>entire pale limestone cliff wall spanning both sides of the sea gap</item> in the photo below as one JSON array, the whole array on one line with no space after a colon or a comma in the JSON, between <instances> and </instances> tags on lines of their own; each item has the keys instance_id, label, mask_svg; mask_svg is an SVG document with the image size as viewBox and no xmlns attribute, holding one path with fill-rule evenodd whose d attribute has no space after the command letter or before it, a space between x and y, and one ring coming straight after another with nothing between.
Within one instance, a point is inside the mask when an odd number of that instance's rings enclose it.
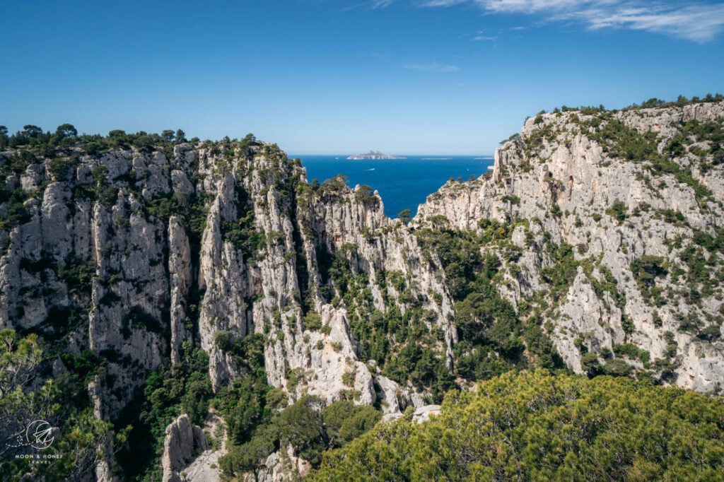
<instances>
[{"instance_id":1,"label":"entire pale limestone cliff wall spanning both sides of the sea gap","mask_svg":"<svg viewBox=\"0 0 724 482\"><path fill-rule=\"evenodd\" d=\"M555 363L547 339L579 373L719 390L723 118L539 115L409 226L369 187L308 185L276 145L7 151L0 328L41 334L56 372L93 352L88 393L111 420L193 347L214 390L244 377L230 347L251 336L291 399L386 413Z\"/></svg>"}]
</instances>

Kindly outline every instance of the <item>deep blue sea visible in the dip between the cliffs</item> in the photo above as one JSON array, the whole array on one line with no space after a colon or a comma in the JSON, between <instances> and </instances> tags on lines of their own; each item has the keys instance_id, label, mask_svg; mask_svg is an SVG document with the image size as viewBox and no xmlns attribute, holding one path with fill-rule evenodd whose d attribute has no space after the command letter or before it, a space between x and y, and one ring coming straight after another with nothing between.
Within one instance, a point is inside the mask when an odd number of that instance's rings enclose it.
<instances>
[{"instance_id":1,"label":"deep blue sea visible in the dip between the cliffs","mask_svg":"<svg viewBox=\"0 0 724 482\"><path fill-rule=\"evenodd\" d=\"M340 156L290 156L300 158L307 169L307 179L323 182L337 174L345 174L348 185L369 185L378 190L384 203L384 213L391 218L403 209L413 216L450 177L463 180L479 177L493 165L492 156L406 156L405 159L352 161Z\"/></svg>"}]
</instances>

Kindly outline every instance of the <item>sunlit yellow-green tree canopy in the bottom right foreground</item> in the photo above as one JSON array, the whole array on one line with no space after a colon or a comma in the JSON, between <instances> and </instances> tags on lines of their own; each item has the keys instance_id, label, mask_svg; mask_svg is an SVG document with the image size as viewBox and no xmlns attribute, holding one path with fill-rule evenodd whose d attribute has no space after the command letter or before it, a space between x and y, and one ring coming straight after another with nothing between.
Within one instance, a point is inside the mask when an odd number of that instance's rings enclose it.
<instances>
[{"instance_id":1,"label":"sunlit yellow-green tree canopy in the bottom right foreground","mask_svg":"<svg viewBox=\"0 0 724 482\"><path fill-rule=\"evenodd\" d=\"M724 404L629 379L506 373L324 454L312 481L718 480Z\"/></svg>"}]
</instances>

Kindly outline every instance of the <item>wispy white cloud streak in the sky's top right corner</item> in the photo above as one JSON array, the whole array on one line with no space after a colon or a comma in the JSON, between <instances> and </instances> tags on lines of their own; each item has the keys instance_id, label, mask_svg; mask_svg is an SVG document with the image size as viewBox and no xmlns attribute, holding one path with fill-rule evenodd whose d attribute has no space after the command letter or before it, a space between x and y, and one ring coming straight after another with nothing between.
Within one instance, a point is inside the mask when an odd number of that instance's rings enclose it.
<instances>
[{"instance_id":1,"label":"wispy white cloud streak in the sky's top right corner","mask_svg":"<svg viewBox=\"0 0 724 482\"><path fill-rule=\"evenodd\" d=\"M383 0L376 0L383 1ZM387 0L391 1L391 0ZM724 29L724 4L673 0L421 0L421 7L476 4L489 14L537 14L544 21L569 21L589 30L620 28L711 41Z\"/></svg>"}]
</instances>

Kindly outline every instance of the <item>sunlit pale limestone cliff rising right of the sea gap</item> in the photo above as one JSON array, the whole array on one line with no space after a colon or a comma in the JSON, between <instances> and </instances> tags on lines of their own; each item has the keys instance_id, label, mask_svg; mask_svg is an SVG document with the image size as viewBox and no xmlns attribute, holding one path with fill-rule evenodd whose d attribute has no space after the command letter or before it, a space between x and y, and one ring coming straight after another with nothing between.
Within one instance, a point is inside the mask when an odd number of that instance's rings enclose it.
<instances>
[{"instance_id":1,"label":"sunlit pale limestone cliff rising right of the sea gap","mask_svg":"<svg viewBox=\"0 0 724 482\"><path fill-rule=\"evenodd\" d=\"M480 219L521 221L510 237L521 257L498 289L518 310L545 300L544 324L568 366L582 373L584 355L605 363L632 344L647 355L636 359L629 347L629 365L719 391L724 167L716 145L694 132L723 119L723 103L540 115L497 149L491 176L449 182L414 223L467 230ZM624 134L650 151L632 152ZM546 270L563 245L573 271L553 296Z\"/></svg>"}]
</instances>

